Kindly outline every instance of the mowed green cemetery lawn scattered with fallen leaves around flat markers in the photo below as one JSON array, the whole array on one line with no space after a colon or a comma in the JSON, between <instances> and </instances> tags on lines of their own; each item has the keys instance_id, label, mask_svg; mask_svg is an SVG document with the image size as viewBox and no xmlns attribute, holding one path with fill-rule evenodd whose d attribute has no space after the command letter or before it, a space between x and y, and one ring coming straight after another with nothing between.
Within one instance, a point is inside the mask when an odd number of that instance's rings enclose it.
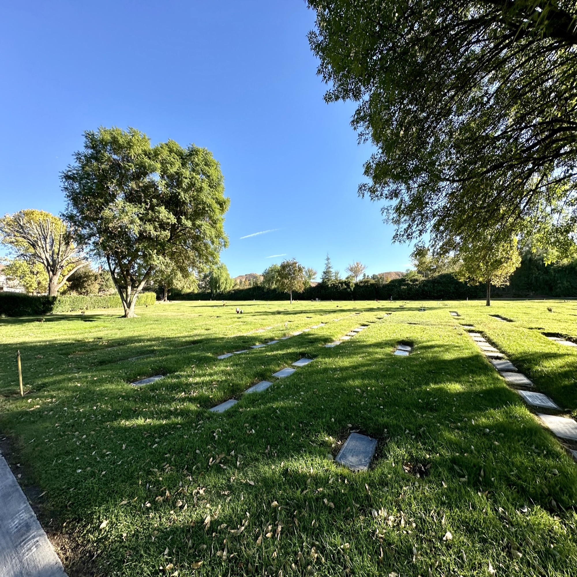
<instances>
[{"instance_id":1,"label":"mowed green cemetery lawn scattered with fallen leaves around flat markers","mask_svg":"<svg viewBox=\"0 0 577 577\"><path fill-rule=\"evenodd\" d=\"M128 320L1 320L0 432L21 482L45 492L43 522L77 544L71 573L78 561L127 576L489 575L489 563L496 575L575 575L577 465L460 326L569 414L576 352L542 332L575 338L575 304L423 304L190 302ZM409 357L392 354L401 342ZM271 379L305 356L314 362ZM273 386L240 396L263 379ZM226 413L207 410L232 397ZM355 474L329 456L357 429L379 446Z\"/></svg>"}]
</instances>

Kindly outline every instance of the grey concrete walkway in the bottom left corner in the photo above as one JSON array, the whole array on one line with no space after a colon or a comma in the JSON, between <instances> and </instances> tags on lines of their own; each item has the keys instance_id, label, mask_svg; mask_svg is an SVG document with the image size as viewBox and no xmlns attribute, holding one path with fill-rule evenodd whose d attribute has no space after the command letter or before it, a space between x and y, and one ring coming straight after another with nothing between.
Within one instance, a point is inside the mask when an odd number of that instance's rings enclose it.
<instances>
[{"instance_id":1,"label":"grey concrete walkway in the bottom left corner","mask_svg":"<svg viewBox=\"0 0 577 577\"><path fill-rule=\"evenodd\" d=\"M62 563L1 453L0 575L66 577Z\"/></svg>"}]
</instances>

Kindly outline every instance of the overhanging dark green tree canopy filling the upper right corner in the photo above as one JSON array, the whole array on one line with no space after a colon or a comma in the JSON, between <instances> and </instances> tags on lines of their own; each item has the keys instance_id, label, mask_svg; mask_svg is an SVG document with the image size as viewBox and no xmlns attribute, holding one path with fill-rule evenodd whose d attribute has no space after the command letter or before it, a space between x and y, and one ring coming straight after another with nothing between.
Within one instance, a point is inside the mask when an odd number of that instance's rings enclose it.
<instances>
[{"instance_id":1,"label":"overhanging dark green tree canopy filling the upper right corner","mask_svg":"<svg viewBox=\"0 0 577 577\"><path fill-rule=\"evenodd\" d=\"M561 207L575 222L575 0L308 4L325 100L357 102L375 147L359 193L384 201L397 241L448 253Z\"/></svg>"}]
</instances>

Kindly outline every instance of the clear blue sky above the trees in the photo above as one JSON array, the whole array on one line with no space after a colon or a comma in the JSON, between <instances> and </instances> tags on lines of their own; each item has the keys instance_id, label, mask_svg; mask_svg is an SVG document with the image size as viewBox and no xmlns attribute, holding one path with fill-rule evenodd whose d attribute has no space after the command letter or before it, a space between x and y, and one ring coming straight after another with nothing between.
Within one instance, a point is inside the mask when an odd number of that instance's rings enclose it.
<instances>
[{"instance_id":1,"label":"clear blue sky above the trees","mask_svg":"<svg viewBox=\"0 0 577 577\"><path fill-rule=\"evenodd\" d=\"M354 104L324 103L312 27L300 0L3 2L0 213L59 213L83 131L133 126L219 160L231 275L286 257L320 273L327 253L343 276L404 271L410 247L357 197L370 148Z\"/></svg>"}]
</instances>

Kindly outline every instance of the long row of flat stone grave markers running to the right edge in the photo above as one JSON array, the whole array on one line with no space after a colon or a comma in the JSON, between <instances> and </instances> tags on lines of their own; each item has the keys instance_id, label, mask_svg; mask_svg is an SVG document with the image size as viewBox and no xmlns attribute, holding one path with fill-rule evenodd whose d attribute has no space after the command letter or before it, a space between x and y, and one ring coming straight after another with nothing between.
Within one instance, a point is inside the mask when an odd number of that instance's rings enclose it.
<instances>
[{"instance_id":1,"label":"long row of flat stone grave markers running to the right edge","mask_svg":"<svg viewBox=\"0 0 577 577\"><path fill-rule=\"evenodd\" d=\"M549 409L553 411L561 410L561 408L547 395L544 395L535 390L531 390L535 387L533 381L528 379L524 374L520 373L516 366L504 357L503 353L501 353L487 342L484 336L478 332L473 332L473 325L462 326L467 330L469 336L473 339L475 344L477 344L485 356L489 358L489 362L499 372L501 377L503 377L503 379L505 379L509 385L513 385L515 387L516 392L518 392L524 402L530 406L537 407L538 409ZM519 387L525 388L523 389ZM573 441L574 443L577 442L577 423L573 419L544 413L537 413L537 417L539 417L541 421L544 422L545 425L549 428L549 430L559 439ZM577 451L574 449L569 449L569 451L571 451L574 459L577 460Z\"/></svg>"}]
</instances>

